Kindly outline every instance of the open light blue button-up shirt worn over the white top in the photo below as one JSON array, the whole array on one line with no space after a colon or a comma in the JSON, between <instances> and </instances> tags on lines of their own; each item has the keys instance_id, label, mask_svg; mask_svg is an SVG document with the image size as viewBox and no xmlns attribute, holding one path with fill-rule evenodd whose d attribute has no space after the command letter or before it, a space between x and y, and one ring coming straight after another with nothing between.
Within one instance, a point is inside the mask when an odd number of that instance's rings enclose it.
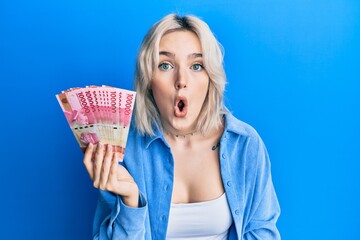
<instances>
[{"instance_id":1,"label":"open light blue button-up shirt worn over the white top","mask_svg":"<svg viewBox=\"0 0 360 240\"><path fill-rule=\"evenodd\" d=\"M94 239L166 239L174 178L171 149L159 128L151 137L131 129L126 147L123 165L138 184L139 208L100 191ZM228 239L280 239L280 207L265 145L251 126L231 113L225 115L219 160L233 218Z\"/></svg>"}]
</instances>

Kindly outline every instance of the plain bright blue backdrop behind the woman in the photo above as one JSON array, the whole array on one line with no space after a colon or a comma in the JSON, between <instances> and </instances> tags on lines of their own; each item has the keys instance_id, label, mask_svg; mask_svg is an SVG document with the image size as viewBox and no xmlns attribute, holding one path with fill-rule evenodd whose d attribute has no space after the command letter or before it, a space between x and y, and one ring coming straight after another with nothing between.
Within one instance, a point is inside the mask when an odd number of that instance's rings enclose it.
<instances>
[{"instance_id":1,"label":"plain bright blue backdrop behind the woman","mask_svg":"<svg viewBox=\"0 0 360 240\"><path fill-rule=\"evenodd\" d=\"M1 239L91 238L97 192L55 94L131 89L143 36L170 12L225 48L226 102L267 145L283 239L359 238L359 1L201 2L0 2Z\"/></svg>"}]
</instances>

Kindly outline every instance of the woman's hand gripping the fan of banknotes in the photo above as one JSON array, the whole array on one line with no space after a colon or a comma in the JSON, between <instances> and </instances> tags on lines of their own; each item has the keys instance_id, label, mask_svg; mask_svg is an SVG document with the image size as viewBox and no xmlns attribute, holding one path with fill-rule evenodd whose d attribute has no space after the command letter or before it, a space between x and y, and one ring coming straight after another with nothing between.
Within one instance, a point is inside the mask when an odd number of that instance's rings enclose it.
<instances>
[{"instance_id":1,"label":"woman's hand gripping the fan of banknotes","mask_svg":"<svg viewBox=\"0 0 360 240\"><path fill-rule=\"evenodd\" d=\"M139 189L130 173L119 164L123 157L111 145L89 143L83 162L95 188L118 194L126 205L138 207Z\"/></svg>"}]
</instances>

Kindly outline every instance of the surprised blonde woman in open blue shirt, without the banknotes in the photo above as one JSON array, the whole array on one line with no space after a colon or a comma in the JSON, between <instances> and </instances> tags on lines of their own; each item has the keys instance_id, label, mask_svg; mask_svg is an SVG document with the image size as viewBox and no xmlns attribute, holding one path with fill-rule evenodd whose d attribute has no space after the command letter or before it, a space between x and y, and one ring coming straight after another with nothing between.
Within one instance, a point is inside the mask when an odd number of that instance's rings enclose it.
<instances>
[{"instance_id":1,"label":"surprised blonde woman in open blue shirt, without the banknotes","mask_svg":"<svg viewBox=\"0 0 360 240\"><path fill-rule=\"evenodd\" d=\"M84 156L100 189L94 239L280 239L266 148L224 106L225 83L205 22L170 14L152 26L125 156L102 144Z\"/></svg>"}]
</instances>

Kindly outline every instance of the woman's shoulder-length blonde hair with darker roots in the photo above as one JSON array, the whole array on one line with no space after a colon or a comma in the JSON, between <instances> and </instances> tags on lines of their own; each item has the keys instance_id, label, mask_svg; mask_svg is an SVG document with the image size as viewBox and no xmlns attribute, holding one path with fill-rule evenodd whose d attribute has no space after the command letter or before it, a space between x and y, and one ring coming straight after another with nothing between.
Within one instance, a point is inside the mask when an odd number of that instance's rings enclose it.
<instances>
[{"instance_id":1,"label":"woman's shoulder-length blonde hair with darker roots","mask_svg":"<svg viewBox=\"0 0 360 240\"><path fill-rule=\"evenodd\" d=\"M151 91L151 78L159 62L160 39L172 31L192 31L201 42L204 67L210 83L207 96L200 111L196 131L207 133L222 124L222 115L226 112L223 95L226 76L223 68L221 45L209 26L195 16L180 17L169 14L155 23L141 44L135 69L135 123L142 134L154 135L154 125L161 126L160 112Z\"/></svg>"}]
</instances>

